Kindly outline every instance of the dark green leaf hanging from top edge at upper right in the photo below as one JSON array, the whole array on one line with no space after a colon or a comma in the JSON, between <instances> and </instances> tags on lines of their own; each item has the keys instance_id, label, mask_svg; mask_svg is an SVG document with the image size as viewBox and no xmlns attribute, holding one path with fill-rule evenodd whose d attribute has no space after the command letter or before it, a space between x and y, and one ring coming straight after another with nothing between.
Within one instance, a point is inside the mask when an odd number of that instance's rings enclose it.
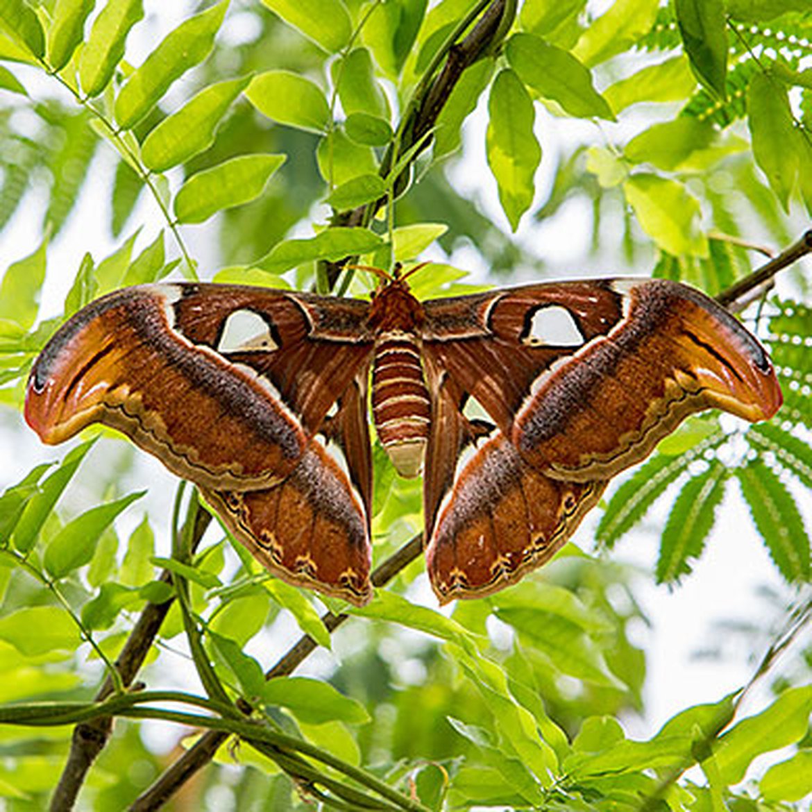
<instances>
[{"instance_id":1,"label":"dark green leaf hanging from top edge at upper right","mask_svg":"<svg viewBox=\"0 0 812 812\"><path fill-rule=\"evenodd\" d=\"M722 0L674 0L676 23L691 69L719 98L726 98L728 33Z\"/></svg>"}]
</instances>

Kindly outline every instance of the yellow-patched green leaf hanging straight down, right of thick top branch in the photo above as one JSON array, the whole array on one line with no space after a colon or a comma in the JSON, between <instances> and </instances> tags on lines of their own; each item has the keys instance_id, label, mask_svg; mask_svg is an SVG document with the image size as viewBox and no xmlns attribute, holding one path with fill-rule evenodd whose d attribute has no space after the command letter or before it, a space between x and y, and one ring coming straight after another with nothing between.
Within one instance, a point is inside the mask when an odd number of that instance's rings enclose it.
<instances>
[{"instance_id":1,"label":"yellow-patched green leaf hanging straight down, right of thick top branch","mask_svg":"<svg viewBox=\"0 0 812 812\"><path fill-rule=\"evenodd\" d=\"M512 231L533 203L533 179L542 148L533 133L533 101L510 69L499 71L490 88L486 151L488 166L499 187L499 201Z\"/></svg>"}]
</instances>

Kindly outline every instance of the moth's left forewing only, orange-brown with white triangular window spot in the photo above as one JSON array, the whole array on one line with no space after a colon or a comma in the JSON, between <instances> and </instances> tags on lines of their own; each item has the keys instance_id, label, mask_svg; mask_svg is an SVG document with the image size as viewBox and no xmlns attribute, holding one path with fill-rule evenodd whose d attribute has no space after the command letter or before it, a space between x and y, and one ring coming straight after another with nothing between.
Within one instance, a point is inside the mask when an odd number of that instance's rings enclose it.
<instances>
[{"instance_id":1,"label":"moth's left forewing only, orange-brown with white triangular window spot","mask_svg":"<svg viewBox=\"0 0 812 812\"><path fill-rule=\"evenodd\" d=\"M114 292L41 352L26 419L46 443L106 423L209 488L279 481L369 364L365 304L334 334L311 313L332 301L232 285Z\"/></svg>"}]
</instances>

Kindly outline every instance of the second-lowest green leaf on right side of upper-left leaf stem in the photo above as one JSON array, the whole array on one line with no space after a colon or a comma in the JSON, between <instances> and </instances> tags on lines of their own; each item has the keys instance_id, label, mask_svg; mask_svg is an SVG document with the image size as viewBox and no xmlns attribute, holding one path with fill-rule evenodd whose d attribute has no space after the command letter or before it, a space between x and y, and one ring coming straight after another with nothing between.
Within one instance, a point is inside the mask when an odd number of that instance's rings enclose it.
<instances>
[{"instance_id":1,"label":"second-lowest green leaf on right side of upper-left leaf stem","mask_svg":"<svg viewBox=\"0 0 812 812\"><path fill-rule=\"evenodd\" d=\"M250 76L244 76L210 84L180 110L163 119L141 146L141 158L145 164L153 171L164 172L209 149L231 102L250 81Z\"/></svg>"}]
</instances>

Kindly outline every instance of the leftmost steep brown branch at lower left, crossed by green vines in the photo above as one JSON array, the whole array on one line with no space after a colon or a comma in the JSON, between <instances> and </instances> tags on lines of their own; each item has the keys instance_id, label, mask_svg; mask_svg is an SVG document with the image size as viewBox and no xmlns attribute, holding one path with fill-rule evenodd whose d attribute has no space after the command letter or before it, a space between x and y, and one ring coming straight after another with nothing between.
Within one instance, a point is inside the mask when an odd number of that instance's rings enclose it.
<instances>
[{"instance_id":1,"label":"leftmost steep brown branch at lower left, crossed by green vines","mask_svg":"<svg viewBox=\"0 0 812 812\"><path fill-rule=\"evenodd\" d=\"M209 526L211 516L206 511L198 511L195 516L194 534L192 537L192 549L197 546L206 528ZM164 570L158 579L165 584L171 584L171 572ZM165 603L148 603L136 621L132 632L124 647L115 661L116 670L121 676L122 685L129 687L132 685L140 667L144 664L146 655L152 647L158 630L161 628L166 612L169 611L175 598L170 598ZM107 676L102 687L98 689L96 701L102 702L113 693L113 681ZM102 752L110 732L113 730L113 719L105 716L100 719L93 719L89 722L81 722L73 728L71 736L71 750L67 756L67 762L63 768L59 783L51 797L51 812L63 812L71 810L76 803L84 779L90 767Z\"/></svg>"}]
</instances>

